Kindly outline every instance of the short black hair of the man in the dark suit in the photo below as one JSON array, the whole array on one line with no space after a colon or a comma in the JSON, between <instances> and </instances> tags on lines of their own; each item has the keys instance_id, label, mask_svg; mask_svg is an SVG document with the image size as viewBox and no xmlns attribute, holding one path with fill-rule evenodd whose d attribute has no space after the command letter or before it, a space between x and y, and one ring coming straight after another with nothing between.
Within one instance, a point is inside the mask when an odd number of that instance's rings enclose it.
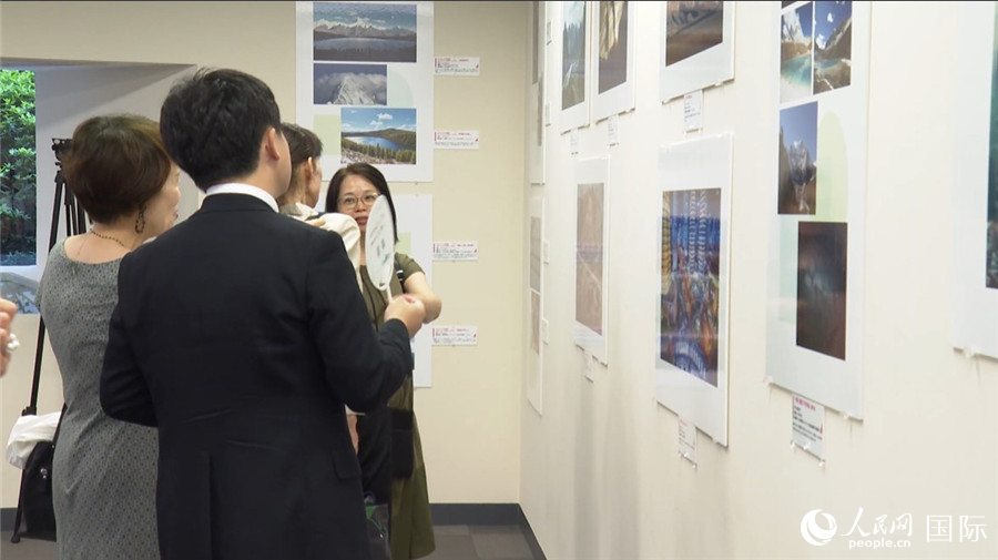
<instances>
[{"instance_id":1,"label":"short black hair of the man in the dark suit","mask_svg":"<svg viewBox=\"0 0 998 560\"><path fill-rule=\"evenodd\" d=\"M281 133L274 93L238 70L198 70L170 90L160 110L166 151L202 190L256 171L271 128Z\"/></svg>"}]
</instances>

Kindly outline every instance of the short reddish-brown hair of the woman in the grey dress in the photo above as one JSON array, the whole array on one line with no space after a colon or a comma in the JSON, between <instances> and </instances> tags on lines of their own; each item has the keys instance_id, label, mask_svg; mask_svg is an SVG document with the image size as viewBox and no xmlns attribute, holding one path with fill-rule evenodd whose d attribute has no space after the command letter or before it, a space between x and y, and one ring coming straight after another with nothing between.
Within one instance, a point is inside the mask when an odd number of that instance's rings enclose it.
<instances>
[{"instance_id":1,"label":"short reddish-brown hair of the woman in the grey dress","mask_svg":"<svg viewBox=\"0 0 998 560\"><path fill-rule=\"evenodd\" d=\"M156 122L136 114L81 122L63 160L67 187L91 220L105 224L143 208L173 164Z\"/></svg>"}]
</instances>

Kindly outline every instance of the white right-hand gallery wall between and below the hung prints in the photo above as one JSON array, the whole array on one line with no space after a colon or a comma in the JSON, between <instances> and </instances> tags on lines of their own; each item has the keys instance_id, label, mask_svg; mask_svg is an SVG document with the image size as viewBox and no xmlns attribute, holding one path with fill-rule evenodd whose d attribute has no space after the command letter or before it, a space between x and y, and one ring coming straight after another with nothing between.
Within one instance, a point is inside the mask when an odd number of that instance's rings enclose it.
<instances>
[{"instance_id":1,"label":"white right-hand gallery wall between and below the hung prints","mask_svg":"<svg viewBox=\"0 0 998 560\"><path fill-rule=\"evenodd\" d=\"M683 132L681 98L659 101L664 2L639 2L637 109L620 115L618 145L608 146L607 122L590 124L580 130L574 155L571 134L560 133L558 123L561 29L553 26L546 49L552 123L544 184L530 186L525 173L525 329L531 198L543 197L550 246L542 265L542 414L528 395L521 399L527 519L551 559L996 558L998 362L951 348L949 289L950 197L955 170L966 164L954 61L964 55L961 33L986 31L994 21L967 31L980 20L968 11L970 2L873 2L864 419L826 410L821 465L791 447L792 394L767 383L767 224L775 206L780 74L773 14L780 4L736 3L734 81L704 91L702 132ZM551 11L559 4L547 2L556 23ZM990 48L974 55L989 68ZM678 455L676 415L655 400L658 153L725 132L733 133L727 446L697 434L694 468ZM578 160L608 155L608 366L590 363L589 380L572 340L574 173ZM525 352L525 376L531 356ZM860 508L858 529L843 536ZM801 530L804 516L817 509L838 525L821 547L808 544ZM886 516L889 530L906 513L909 549L848 549L859 531L864 539L885 537L873 533L878 517ZM951 542L929 542L929 516L951 519ZM984 523L987 538L960 542L961 516L981 516L970 522Z\"/></svg>"}]
</instances>

